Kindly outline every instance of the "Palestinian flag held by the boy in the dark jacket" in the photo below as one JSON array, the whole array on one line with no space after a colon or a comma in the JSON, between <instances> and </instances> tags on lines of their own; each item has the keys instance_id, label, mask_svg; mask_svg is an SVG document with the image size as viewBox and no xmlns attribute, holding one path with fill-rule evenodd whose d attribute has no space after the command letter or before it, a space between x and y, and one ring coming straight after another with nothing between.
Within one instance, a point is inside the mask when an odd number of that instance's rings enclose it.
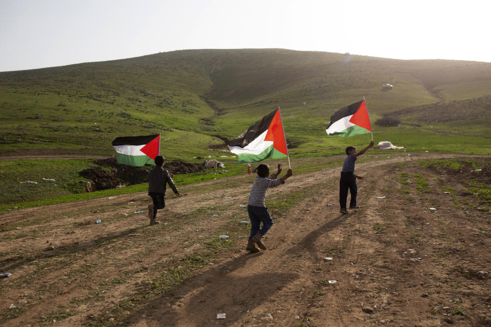
<instances>
[{"instance_id":1,"label":"Palestinian flag held by the boy in the dark jacket","mask_svg":"<svg viewBox=\"0 0 491 327\"><path fill-rule=\"evenodd\" d=\"M116 137L113 147L119 164L137 167L155 165L155 157L159 155L160 135Z\"/></svg>"}]
</instances>

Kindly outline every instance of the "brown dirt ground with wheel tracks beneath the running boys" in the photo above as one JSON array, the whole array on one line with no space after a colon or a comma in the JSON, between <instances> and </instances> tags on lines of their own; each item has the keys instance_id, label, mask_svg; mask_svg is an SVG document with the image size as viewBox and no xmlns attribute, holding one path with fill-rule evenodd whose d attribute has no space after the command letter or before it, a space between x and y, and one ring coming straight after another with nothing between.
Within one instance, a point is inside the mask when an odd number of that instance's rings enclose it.
<instances>
[{"instance_id":1,"label":"brown dirt ground with wheel tracks beneath the running boys","mask_svg":"<svg viewBox=\"0 0 491 327\"><path fill-rule=\"evenodd\" d=\"M252 175L170 192L155 226L145 193L2 213L0 325L491 325L491 214L467 180L415 159L357 164L361 208L348 215L339 168L270 189L275 224L256 254L240 223Z\"/></svg>"}]
</instances>

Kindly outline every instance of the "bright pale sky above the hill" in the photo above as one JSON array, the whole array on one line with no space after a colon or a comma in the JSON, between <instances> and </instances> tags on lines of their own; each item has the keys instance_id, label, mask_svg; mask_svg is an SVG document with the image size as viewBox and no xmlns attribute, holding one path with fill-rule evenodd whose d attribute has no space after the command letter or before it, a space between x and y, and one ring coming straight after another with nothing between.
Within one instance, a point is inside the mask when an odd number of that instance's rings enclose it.
<instances>
[{"instance_id":1,"label":"bright pale sky above the hill","mask_svg":"<svg viewBox=\"0 0 491 327\"><path fill-rule=\"evenodd\" d=\"M491 62L487 0L0 0L0 72L185 49Z\"/></svg>"}]
</instances>

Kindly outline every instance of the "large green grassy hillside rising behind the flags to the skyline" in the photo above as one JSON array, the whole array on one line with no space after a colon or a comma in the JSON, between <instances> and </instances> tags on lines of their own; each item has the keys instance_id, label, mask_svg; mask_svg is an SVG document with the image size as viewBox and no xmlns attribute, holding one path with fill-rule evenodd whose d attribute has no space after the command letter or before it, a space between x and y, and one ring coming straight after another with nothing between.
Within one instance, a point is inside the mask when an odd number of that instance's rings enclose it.
<instances>
[{"instance_id":1,"label":"large green grassy hillside rising behind the flags to the skyline","mask_svg":"<svg viewBox=\"0 0 491 327\"><path fill-rule=\"evenodd\" d=\"M2 155L110 155L117 136L152 133L162 133L170 158L217 155L222 152L208 150L221 143L215 136L235 137L278 106L287 141L297 147L293 156L339 153L346 140L326 137L329 116L364 96L372 125L384 115L402 118L400 128L374 126L378 141L410 151L421 151L424 141L426 149L448 152L441 130L430 127L441 113L434 109L445 107L445 116L459 114L456 124L449 119L445 125L459 136L451 140L451 152L491 150L483 139L491 123L491 64L349 58L281 49L189 50L3 72ZM383 90L384 83L394 88ZM408 114L415 108L425 110L426 120ZM470 118L462 115L466 110L472 110Z\"/></svg>"}]
</instances>

